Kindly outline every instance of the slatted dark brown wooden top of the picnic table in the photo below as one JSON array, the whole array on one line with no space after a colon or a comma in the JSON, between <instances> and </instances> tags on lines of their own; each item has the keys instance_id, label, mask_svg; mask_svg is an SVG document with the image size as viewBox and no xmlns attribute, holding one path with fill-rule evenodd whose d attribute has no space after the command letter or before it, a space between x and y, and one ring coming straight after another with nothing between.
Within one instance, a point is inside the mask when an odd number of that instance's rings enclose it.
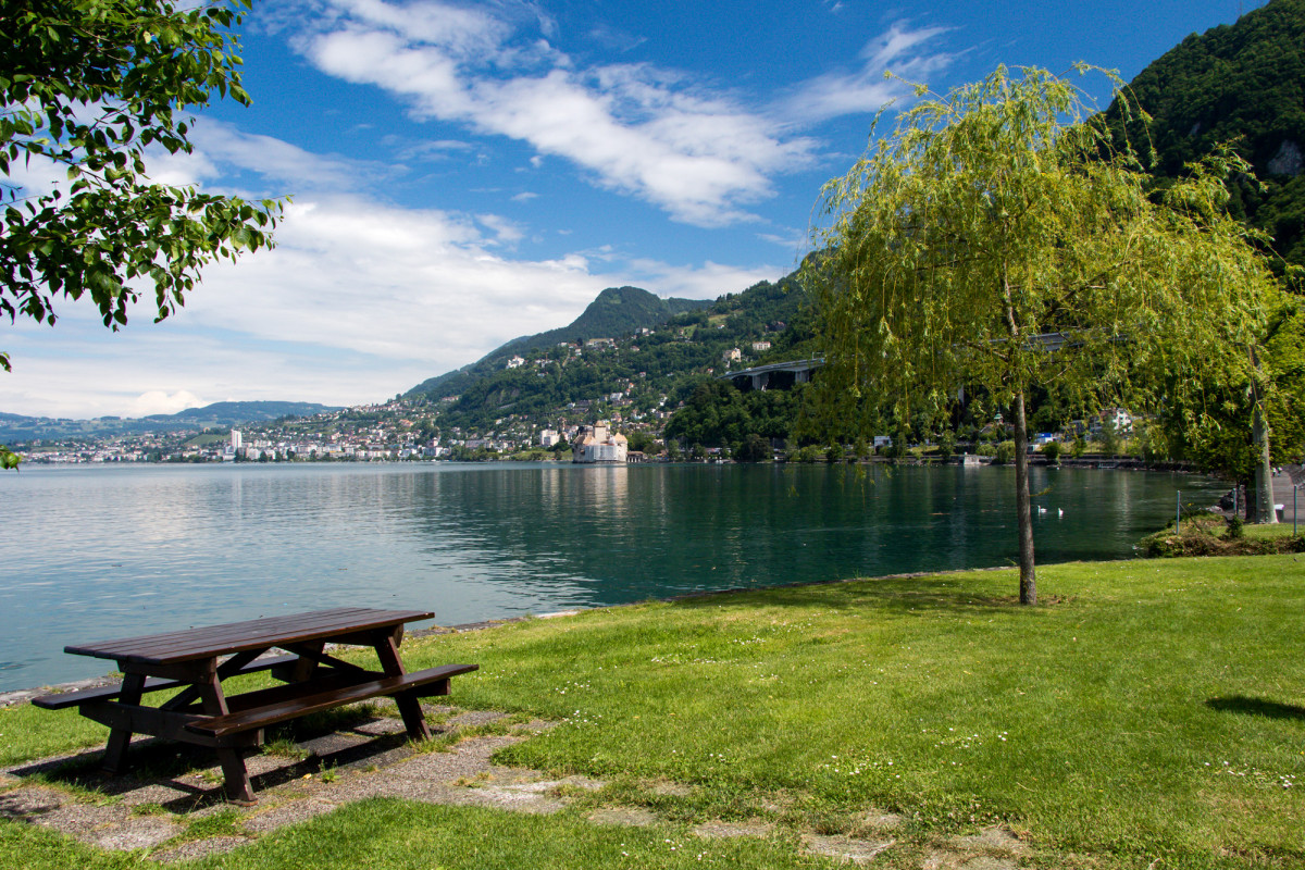
<instances>
[{"instance_id":1,"label":"slatted dark brown wooden top of the picnic table","mask_svg":"<svg viewBox=\"0 0 1305 870\"><path fill-rule=\"evenodd\" d=\"M435 617L433 613L424 610L335 608L149 634L140 638L69 644L64 647L64 652L133 664L176 664L249 650L265 650L286 643L329 640L341 635L392 629L405 622L432 617Z\"/></svg>"}]
</instances>

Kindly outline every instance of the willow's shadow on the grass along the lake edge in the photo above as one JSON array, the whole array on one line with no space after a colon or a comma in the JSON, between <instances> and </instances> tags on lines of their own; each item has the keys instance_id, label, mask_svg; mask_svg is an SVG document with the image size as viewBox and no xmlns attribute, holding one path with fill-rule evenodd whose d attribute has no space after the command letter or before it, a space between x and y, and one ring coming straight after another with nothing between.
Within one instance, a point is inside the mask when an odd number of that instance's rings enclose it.
<instances>
[{"instance_id":1,"label":"willow's shadow on the grass along the lake edge","mask_svg":"<svg viewBox=\"0 0 1305 870\"><path fill-rule=\"evenodd\" d=\"M675 599L681 608L799 607L876 609L889 613L953 610L1019 610L1018 580L1010 595L979 591L970 575L911 575L835 583L792 583L763 590L727 590ZM1060 596L1041 596L1039 608L1062 604Z\"/></svg>"}]
</instances>

